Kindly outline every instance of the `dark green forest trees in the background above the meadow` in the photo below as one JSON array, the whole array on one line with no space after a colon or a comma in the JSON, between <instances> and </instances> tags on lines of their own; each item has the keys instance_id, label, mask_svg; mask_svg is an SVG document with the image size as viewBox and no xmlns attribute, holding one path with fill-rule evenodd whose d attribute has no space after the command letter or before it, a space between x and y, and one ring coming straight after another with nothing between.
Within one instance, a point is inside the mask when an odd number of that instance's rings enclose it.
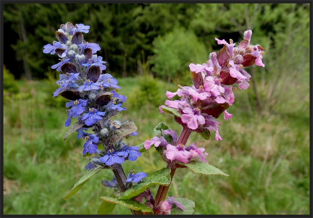
<instances>
[{"instance_id":1,"label":"dark green forest trees in the background above the meadow","mask_svg":"<svg viewBox=\"0 0 313 218\"><path fill-rule=\"evenodd\" d=\"M276 52L267 59L295 40L303 50L305 39L294 36L308 31L309 5L4 4L5 66L16 78L46 77L57 57L47 58L43 46L67 21L91 26L88 41L102 48L98 53L108 73L126 77L151 71L171 79L190 61L205 62L209 52L217 51L216 36L238 42L246 29L253 29L253 41Z\"/></svg>"}]
</instances>

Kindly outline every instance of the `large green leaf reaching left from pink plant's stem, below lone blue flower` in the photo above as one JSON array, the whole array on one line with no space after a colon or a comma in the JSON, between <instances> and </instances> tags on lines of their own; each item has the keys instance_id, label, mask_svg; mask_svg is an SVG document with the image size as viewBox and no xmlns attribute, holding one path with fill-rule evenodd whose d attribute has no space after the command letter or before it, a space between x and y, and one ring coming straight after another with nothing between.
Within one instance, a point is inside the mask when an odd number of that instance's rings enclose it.
<instances>
[{"instance_id":1,"label":"large green leaf reaching left from pink plant's stem, below lone blue flower","mask_svg":"<svg viewBox=\"0 0 313 218\"><path fill-rule=\"evenodd\" d=\"M170 184L170 168L163 168L138 182L131 189L126 190L119 199L130 199L142 193L151 185L168 185Z\"/></svg>"}]
</instances>

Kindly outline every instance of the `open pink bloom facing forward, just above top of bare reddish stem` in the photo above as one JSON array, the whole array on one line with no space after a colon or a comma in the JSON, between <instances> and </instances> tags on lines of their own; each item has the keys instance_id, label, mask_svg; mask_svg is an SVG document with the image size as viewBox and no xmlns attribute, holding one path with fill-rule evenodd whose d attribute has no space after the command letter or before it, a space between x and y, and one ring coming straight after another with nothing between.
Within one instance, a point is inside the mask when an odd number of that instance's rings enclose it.
<instances>
[{"instance_id":1,"label":"open pink bloom facing forward, just above top of bare reddish stem","mask_svg":"<svg viewBox=\"0 0 313 218\"><path fill-rule=\"evenodd\" d=\"M200 114L201 112L199 108L191 109L189 107L186 107L183 109L183 112L185 114L181 115L181 121L187 124L187 126L192 130L198 128L198 121L202 125L206 122L204 117Z\"/></svg>"}]
</instances>

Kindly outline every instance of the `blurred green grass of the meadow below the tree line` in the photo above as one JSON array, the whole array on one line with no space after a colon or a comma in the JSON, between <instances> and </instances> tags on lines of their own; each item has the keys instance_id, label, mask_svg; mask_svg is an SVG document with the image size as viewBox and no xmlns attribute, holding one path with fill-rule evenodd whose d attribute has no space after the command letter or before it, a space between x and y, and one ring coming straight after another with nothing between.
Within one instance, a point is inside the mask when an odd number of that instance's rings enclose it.
<instances>
[{"instance_id":1,"label":"blurred green grass of the meadow below the tree line","mask_svg":"<svg viewBox=\"0 0 313 218\"><path fill-rule=\"evenodd\" d=\"M152 102L140 106L136 94L138 78L118 79L119 93L128 97L126 111L118 119L134 120L138 136L126 141L137 145L153 136L153 128L166 122L181 131L170 114L160 114ZM75 134L63 141L67 127L65 102L52 98L53 82L19 81L20 93L6 96L4 102L4 214L97 214L100 197L112 193L101 185L112 178L109 170L92 177L75 195L60 200L84 174L88 157L81 157L83 141ZM158 81L158 92L164 102L165 91L173 84ZM307 87L305 87L307 88ZM251 89L252 90L252 89ZM265 111L259 115L247 112L245 92L253 108L251 90L236 90L234 105L228 109L232 119L219 127L222 141L205 141L193 133L189 142L200 141L209 153L207 161L229 174L204 176L188 169L178 169L169 190L170 195L196 202L195 214L272 214L273 210L309 211L309 113L308 94L303 109L279 113ZM299 90L298 90L299 91ZM246 94L247 94L246 93ZM150 149L136 162L125 162L125 171L152 173L165 167L159 154ZM153 193L157 186L152 187ZM121 205L112 214L130 214Z\"/></svg>"}]
</instances>

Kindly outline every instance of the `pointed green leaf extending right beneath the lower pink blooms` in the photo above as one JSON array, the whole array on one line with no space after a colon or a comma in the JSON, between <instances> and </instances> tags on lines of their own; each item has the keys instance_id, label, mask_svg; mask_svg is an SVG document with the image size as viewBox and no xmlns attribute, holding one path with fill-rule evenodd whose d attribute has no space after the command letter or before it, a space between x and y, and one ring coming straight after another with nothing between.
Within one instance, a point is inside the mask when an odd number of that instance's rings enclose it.
<instances>
[{"instance_id":1,"label":"pointed green leaf extending right beneath the lower pink blooms","mask_svg":"<svg viewBox=\"0 0 313 218\"><path fill-rule=\"evenodd\" d=\"M229 176L226 173L223 173L222 170L213 167L210 164L207 164L205 162L200 161L189 161L188 163L180 163L181 165L184 165L186 167L189 167L192 171L196 173L202 173L205 175L223 175L223 176Z\"/></svg>"}]
</instances>

